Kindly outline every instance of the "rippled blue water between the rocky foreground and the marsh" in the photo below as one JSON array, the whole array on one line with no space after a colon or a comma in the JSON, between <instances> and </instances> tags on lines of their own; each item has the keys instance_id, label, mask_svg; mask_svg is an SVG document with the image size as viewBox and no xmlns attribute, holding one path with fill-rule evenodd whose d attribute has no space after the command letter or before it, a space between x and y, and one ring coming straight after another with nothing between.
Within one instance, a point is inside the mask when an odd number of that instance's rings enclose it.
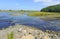
<instances>
[{"instance_id":1,"label":"rippled blue water between the rocky foreground and the marsh","mask_svg":"<svg viewBox=\"0 0 60 39\"><path fill-rule=\"evenodd\" d=\"M11 16L9 12L0 12L0 29L13 26L15 24L29 25L42 30L60 31L60 20L44 21L38 17L30 17L26 14Z\"/></svg>"}]
</instances>

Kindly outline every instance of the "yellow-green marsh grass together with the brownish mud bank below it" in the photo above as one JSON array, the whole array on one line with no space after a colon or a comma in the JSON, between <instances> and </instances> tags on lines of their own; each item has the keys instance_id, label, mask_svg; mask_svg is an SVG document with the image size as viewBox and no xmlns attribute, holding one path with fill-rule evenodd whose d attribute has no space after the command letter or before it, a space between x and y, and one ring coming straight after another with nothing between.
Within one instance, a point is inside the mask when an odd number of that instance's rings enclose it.
<instances>
[{"instance_id":1,"label":"yellow-green marsh grass together with the brownish mud bank below it","mask_svg":"<svg viewBox=\"0 0 60 39\"><path fill-rule=\"evenodd\" d=\"M32 17L40 17L43 20L60 20L60 13L56 12L33 12L27 15Z\"/></svg>"}]
</instances>

